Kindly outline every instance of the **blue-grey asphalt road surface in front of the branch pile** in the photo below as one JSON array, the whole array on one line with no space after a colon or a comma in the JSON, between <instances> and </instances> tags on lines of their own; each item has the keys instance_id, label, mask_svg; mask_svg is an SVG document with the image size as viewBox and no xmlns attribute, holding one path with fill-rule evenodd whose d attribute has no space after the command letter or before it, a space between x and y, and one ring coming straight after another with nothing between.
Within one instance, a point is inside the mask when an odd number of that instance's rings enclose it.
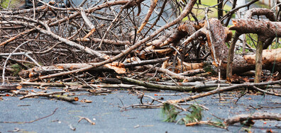
<instances>
[{"instance_id":1,"label":"blue-grey asphalt road surface in front of the branch pile","mask_svg":"<svg viewBox=\"0 0 281 133\"><path fill-rule=\"evenodd\" d=\"M23 88L22 88L23 89ZM35 88L28 88L35 89ZM35 91L39 91L36 90ZM54 91L54 90L51 90ZM165 93L146 92L145 95L175 94L166 91ZM243 96L238 100L237 93L224 93L221 96L225 99L219 103L219 95L199 98L191 103L205 105L209 110L204 111L203 120L214 119L214 116L228 118L239 114L250 112L281 112L281 100L277 96ZM158 96L164 100L178 99L181 96ZM119 106L133 105L140 103L137 96L128 91L114 91L107 96L79 96L79 100L92 100L92 103L68 103L62 100L49 98L26 98L19 100L18 97L3 96L0 100L0 132L244 132L240 124L226 129L211 127L208 125L197 125L185 127L172 122L162 122L160 108L128 108L121 110ZM122 101L122 102L121 102ZM143 102L150 101L144 98ZM123 105L122 105L123 103ZM252 107L263 106L258 110ZM252 106L252 107L251 107ZM268 108L275 107L275 108ZM279 107L279 108L276 108ZM54 112L54 110L57 110ZM53 115L51 115L54 112ZM46 117L50 115L49 117ZM38 120L39 118L45 117ZM86 120L78 123L79 117L87 117L95 125ZM37 120L35 122L31 122ZM17 123L3 123L17 122ZM22 123L31 122L31 123ZM248 127L247 127L248 128ZM73 130L75 129L75 130ZM250 128L252 132L281 132L281 122L274 120L256 120L255 125Z\"/></svg>"}]
</instances>

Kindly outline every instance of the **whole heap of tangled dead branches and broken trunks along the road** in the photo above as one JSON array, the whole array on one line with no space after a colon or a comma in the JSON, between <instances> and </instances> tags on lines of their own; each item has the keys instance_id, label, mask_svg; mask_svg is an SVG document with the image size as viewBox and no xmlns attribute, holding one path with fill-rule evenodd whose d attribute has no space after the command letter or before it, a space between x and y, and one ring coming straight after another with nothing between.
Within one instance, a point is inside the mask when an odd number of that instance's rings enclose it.
<instances>
[{"instance_id":1,"label":"whole heap of tangled dead branches and broken trunks along the road","mask_svg":"<svg viewBox=\"0 0 281 133\"><path fill-rule=\"evenodd\" d=\"M172 3L171 11L165 12L169 2L150 1L147 11L142 10L143 0L98 1L66 8L43 2L34 8L2 9L3 83L19 76L21 86L59 86L64 90L34 94L19 91L18 86L1 86L0 91L25 95L21 98L43 96L70 102L78 98L60 95L71 91L104 94L113 91L109 88L206 91L180 100L158 100L161 106L246 88L280 96L279 91L265 90L280 88L281 84L281 49L266 50L281 35L281 24L272 11L253 8L244 19L233 19L233 26L228 28L224 25L228 25L231 14L243 6L233 4L231 11L219 17L221 20L208 18L210 8L214 8L209 6L204 8L205 19L198 21L192 13L196 0ZM269 21L252 19L263 15ZM228 21L224 23L225 19ZM233 40L231 30L236 32ZM258 35L257 52L235 54L238 37L247 33ZM247 46L243 51L255 52ZM247 83L253 81L250 70L256 70L256 83ZM226 76L228 82L223 80Z\"/></svg>"}]
</instances>

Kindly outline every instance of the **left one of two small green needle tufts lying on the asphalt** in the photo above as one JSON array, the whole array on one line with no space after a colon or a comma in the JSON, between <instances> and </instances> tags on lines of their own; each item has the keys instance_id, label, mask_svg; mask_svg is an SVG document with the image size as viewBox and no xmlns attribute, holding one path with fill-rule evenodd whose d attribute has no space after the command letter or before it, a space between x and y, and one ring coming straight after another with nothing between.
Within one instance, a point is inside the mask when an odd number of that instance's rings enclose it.
<instances>
[{"instance_id":1,"label":"left one of two small green needle tufts lying on the asphalt","mask_svg":"<svg viewBox=\"0 0 281 133\"><path fill-rule=\"evenodd\" d=\"M170 105L169 103L164 103L163 108L161 110L162 117L165 119L164 122L175 122L177 119L177 109L174 105Z\"/></svg>"}]
</instances>

